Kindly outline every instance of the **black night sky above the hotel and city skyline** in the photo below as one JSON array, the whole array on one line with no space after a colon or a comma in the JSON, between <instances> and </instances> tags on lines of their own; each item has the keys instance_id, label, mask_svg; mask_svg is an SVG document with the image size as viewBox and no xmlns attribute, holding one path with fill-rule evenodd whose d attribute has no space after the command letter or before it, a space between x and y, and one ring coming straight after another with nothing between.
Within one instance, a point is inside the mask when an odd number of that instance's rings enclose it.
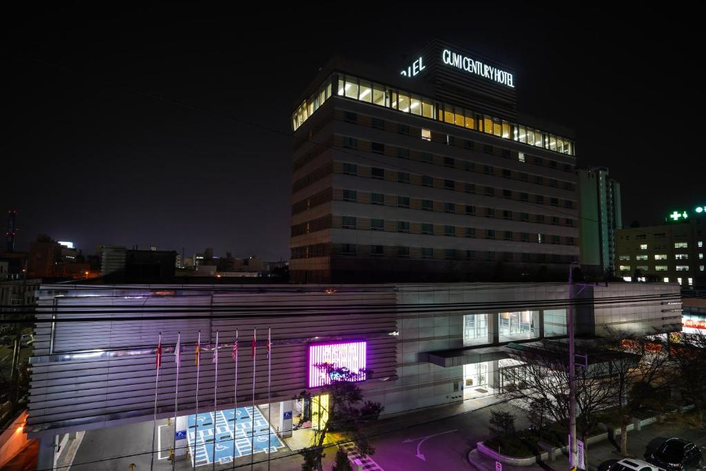
<instances>
[{"instance_id":1,"label":"black night sky above the hotel and city skyline","mask_svg":"<svg viewBox=\"0 0 706 471\"><path fill-rule=\"evenodd\" d=\"M331 54L396 70L433 37L515 68L520 112L575 129L579 164L621 182L624 225L706 203L698 14L487 4L5 11L0 210L18 210L17 249L46 233L85 254L288 258L304 88Z\"/></svg>"}]
</instances>

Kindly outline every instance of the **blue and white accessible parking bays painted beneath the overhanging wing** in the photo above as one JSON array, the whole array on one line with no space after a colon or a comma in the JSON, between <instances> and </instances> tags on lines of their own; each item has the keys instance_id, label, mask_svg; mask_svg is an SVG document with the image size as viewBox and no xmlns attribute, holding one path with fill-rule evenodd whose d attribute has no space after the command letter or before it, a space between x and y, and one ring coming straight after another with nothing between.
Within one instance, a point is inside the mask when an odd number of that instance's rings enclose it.
<instances>
[{"instance_id":1,"label":"blue and white accessible parking bays painted beneath the overhanging wing","mask_svg":"<svg viewBox=\"0 0 706 471\"><path fill-rule=\"evenodd\" d=\"M197 422L198 427L195 427ZM252 407L218 410L215 415L213 412L203 412L198 418L196 415L189 415L188 424L187 436L194 466L210 465L214 461L221 464L231 463L233 458L250 455L253 449L254 453L274 453L285 446L257 407L254 411Z\"/></svg>"}]
</instances>

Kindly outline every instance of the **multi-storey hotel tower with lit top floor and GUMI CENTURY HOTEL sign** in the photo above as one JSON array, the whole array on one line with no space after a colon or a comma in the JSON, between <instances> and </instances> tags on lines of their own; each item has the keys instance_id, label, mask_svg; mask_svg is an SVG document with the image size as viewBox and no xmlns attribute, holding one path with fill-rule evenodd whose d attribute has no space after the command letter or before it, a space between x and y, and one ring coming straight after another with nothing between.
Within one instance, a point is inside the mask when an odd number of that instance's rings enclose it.
<instances>
[{"instance_id":1,"label":"multi-storey hotel tower with lit top floor and GUMI CENTURY HOTEL sign","mask_svg":"<svg viewBox=\"0 0 706 471\"><path fill-rule=\"evenodd\" d=\"M321 70L292 115L292 282L566 278L575 143L519 124L514 73L470 57Z\"/></svg>"}]
</instances>

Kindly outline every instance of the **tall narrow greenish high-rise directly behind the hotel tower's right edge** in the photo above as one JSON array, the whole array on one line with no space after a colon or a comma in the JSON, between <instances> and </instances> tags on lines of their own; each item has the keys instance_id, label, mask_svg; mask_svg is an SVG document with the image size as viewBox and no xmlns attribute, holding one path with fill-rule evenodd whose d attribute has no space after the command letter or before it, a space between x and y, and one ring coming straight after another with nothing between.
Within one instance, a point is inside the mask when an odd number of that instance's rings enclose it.
<instances>
[{"instance_id":1,"label":"tall narrow greenish high-rise directly behind the hotel tower's right edge","mask_svg":"<svg viewBox=\"0 0 706 471\"><path fill-rule=\"evenodd\" d=\"M605 167L578 169L581 266L615 273L616 229L623 226L620 184Z\"/></svg>"}]
</instances>

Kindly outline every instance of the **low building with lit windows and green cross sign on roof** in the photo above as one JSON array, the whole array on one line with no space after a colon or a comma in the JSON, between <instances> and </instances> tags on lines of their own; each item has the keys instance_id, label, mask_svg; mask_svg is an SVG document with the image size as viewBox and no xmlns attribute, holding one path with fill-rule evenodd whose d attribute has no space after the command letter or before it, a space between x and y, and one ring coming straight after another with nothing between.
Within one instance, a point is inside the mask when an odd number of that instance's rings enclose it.
<instances>
[{"instance_id":1,"label":"low building with lit windows and green cross sign on roof","mask_svg":"<svg viewBox=\"0 0 706 471\"><path fill-rule=\"evenodd\" d=\"M616 274L626 281L706 286L706 212L674 211L666 220L618 230Z\"/></svg>"}]
</instances>

